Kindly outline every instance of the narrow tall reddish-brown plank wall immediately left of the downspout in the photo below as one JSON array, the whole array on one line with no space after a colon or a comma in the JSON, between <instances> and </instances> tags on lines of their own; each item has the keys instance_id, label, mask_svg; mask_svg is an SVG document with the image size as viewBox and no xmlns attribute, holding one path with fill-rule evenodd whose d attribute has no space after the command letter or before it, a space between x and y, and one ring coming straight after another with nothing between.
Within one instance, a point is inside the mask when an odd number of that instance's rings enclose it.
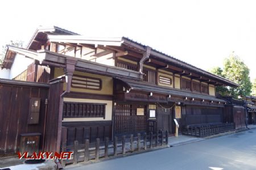
<instances>
[{"instance_id":1,"label":"narrow tall reddish-brown plank wall immediately left of the downspout","mask_svg":"<svg viewBox=\"0 0 256 170\"><path fill-rule=\"evenodd\" d=\"M59 118L60 95L63 93L63 82L56 82L49 87L48 111L46 117L46 135L44 151L56 151L57 124Z\"/></svg>"}]
</instances>

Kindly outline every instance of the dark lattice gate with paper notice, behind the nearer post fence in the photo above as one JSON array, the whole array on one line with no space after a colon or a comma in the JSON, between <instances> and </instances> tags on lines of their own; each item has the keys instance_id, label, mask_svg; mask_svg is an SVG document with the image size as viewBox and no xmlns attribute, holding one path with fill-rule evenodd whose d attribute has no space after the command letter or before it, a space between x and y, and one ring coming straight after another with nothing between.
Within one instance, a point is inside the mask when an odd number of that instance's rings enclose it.
<instances>
[{"instance_id":1,"label":"dark lattice gate with paper notice, behind the nearer post fence","mask_svg":"<svg viewBox=\"0 0 256 170\"><path fill-rule=\"evenodd\" d=\"M146 132L147 105L117 104L114 107L114 135Z\"/></svg>"}]
</instances>

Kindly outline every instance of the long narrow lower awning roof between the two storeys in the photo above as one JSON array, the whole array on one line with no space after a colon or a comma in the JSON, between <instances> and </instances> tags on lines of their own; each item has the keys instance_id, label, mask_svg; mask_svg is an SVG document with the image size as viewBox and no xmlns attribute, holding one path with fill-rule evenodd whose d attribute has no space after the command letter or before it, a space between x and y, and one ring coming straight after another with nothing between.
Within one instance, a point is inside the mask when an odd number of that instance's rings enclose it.
<instances>
[{"instance_id":1,"label":"long narrow lower awning roof between the two storeys","mask_svg":"<svg viewBox=\"0 0 256 170\"><path fill-rule=\"evenodd\" d=\"M127 86L131 88L131 90L152 92L152 93L155 92L157 94L174 95L174 96L189 97L194 99L217 101L217 102L220 101L221 103L226 102L225 100L218 99L214 96L201 95L201 94L196 94L189 91L185 92L175 88L165 88L165 87L157 86L157 85L146 83L146 82L140 82L138 80L130 80L125 78L123 79L115 78L115 79L127 84Z\"/></svg>"}]
</instances>

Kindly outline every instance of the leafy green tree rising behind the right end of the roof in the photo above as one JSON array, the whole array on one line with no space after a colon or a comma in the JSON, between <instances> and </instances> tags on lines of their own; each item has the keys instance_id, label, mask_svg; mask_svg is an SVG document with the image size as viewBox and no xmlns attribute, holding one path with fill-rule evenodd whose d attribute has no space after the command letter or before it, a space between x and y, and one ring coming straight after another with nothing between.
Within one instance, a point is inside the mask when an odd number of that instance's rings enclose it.
<instances>
[{"instance_id":1,"label":"leafy green tree rising behind the right end of the roof","mask_svg":"<svg viewBox=\"0 0 256 170\"><path fill-rule=\"evenodd\" d=\"M234 54L224 60L223 76L239 84L239 87L229 87L230 95L234 97L247 96L251 93L252 84L249 76L250 70L245 63Z\"/></svg>"}]
</instances>

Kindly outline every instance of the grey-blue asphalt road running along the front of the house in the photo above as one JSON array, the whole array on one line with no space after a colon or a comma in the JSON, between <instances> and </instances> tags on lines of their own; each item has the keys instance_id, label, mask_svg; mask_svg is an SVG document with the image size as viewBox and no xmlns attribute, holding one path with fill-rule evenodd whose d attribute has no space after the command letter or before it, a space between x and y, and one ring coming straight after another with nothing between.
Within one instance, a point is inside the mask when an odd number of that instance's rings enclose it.
<instances>
[{"instance_id":1,"label":"grey-blue asphalt road running along the front of the house","mask_svg":"<svg viewBox=\"0 0 256 170\"><path fill-rule=\"evenodd\" d=\"M69 168L79 169L256 169L256 129L144 154Z\"/></svg>"}]
</instances>

